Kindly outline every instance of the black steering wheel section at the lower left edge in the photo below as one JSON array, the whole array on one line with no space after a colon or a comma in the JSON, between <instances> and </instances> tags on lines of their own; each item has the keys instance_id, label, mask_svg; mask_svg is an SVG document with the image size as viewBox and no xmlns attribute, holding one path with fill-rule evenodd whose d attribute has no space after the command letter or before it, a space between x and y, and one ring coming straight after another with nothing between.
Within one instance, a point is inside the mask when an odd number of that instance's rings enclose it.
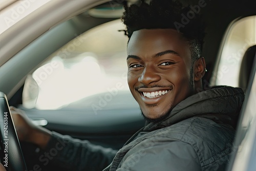
<instances>
[{"instance_id":1,"label":"black steering wheel section at the lower left edge","mask_svg":"<svg viewBox=\"0 0 256 171\"><path fill-rule=\"evenodd\" d=\"M20 148L6 95L0 92L1 163L6 170L24 171L27 166Z\"/></svg>"}]
</instances>

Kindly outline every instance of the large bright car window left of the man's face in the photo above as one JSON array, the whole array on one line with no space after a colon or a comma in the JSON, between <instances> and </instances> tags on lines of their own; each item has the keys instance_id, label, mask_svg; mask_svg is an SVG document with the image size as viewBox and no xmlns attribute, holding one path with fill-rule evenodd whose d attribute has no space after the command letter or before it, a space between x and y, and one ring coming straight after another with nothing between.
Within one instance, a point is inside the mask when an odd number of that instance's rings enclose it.
<instances>
[{"instance_id":1,"label":"large bright car window left of the man's face","mask_svg":"<svg viewBox=\"0 0 256 171\"><path fill-rule=\"evenodd\" d=\"M127 36L120 19L95 27L52 54L29 75L23 91L25 108L60 109L100 93L110 99L129 91Z\"/></svg>"}]
</instances>

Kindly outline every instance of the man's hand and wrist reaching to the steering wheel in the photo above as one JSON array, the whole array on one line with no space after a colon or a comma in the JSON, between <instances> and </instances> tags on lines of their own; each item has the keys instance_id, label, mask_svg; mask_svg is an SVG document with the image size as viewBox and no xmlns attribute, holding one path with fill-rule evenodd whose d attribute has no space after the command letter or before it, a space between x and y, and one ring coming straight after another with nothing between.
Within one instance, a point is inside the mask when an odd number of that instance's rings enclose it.
<instances>
[{"instance_id":1,"label":"man's hand and wrist reaching to the steering wheel","mask_svg":"<svg viewBox=\"0 0 256 171\"><path fill-rule=\"evenodd\" d=\"M10 107L12 119L20 141L31 142L44 148L51 137L51 132L44 127L34 125L24 111Z\"/></svg>"}]
</instances>

